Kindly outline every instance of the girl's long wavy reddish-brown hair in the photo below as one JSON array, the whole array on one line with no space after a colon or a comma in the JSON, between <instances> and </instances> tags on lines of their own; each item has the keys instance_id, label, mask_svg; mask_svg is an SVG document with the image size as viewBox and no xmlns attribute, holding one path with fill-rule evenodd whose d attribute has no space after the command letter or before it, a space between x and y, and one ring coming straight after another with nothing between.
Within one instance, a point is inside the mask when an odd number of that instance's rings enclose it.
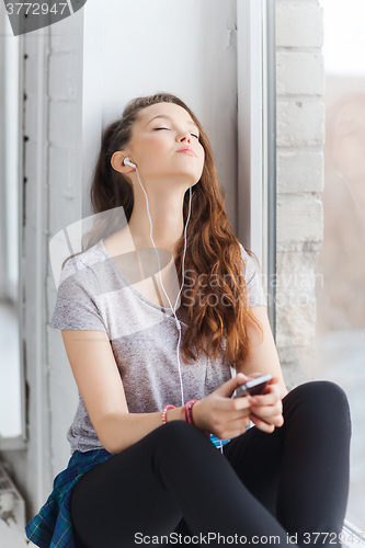
<instances>
[{"instance_id":1,"label":"girl's long wavy reddish-brown hair","mask_svg":"<svg viewBox=\"0 0 365 548\"><path fill-rule=\"evenodd\" d=\"M189 290L183 288L181 293L181 305L187 312L189 327L182 338L181 357L186 364L190 359L195 361L202 350L210 357L213 352L216 359L218 352L223 351L224 357L228 357L235 367L237 362L244 361L251 353L247 331L249 319L259 327L261 333L262 328L248 305L246 265L239 241L225 212L226 194L218 180L208 137L183 101L162 92L129 101L122 118L110 124L103 132L101 152L93 173L91 204L95 214L123 206L129 222L134 206L133 186L126 176L113 169L111 159L115 151L123 150L128 145L139 112L157 103L175 103L185 109L199 129L199 141L205 150L202 176L192 189L191 218L186 231L184 265L190 282ZM184 225L189 214L189 198L190 193L186 191L183 203ZM115 232L119 228L117 218L121 217L109 216L107 221L88 235L83 247L87 249L93 246L101 233L105 236ZM182 235L175 261L180 285L183 251ZM246 251L256 260L252 251ZM202 274L214 276L218 283L204 284L207 278Z\"/></svg>"}]
</instances>

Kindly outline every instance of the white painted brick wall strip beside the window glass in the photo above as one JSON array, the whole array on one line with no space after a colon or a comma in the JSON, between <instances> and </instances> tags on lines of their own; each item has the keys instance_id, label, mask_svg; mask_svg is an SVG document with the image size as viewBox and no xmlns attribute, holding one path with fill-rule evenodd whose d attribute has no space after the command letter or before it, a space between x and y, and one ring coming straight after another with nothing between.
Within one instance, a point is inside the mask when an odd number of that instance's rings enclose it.
<instances>
[{"instance_id":1,"label":"white painted brick wall strip beside the window glass","mask_svg":"<svg viewBox=\"0 0 365 548\"><path fill-rule=\"evenodd\" d=\"M323 239L322 45L318 0L276 0L276 346L289 389L310 379L315 358L315 264Z\"/></svg>"}]
</instances>

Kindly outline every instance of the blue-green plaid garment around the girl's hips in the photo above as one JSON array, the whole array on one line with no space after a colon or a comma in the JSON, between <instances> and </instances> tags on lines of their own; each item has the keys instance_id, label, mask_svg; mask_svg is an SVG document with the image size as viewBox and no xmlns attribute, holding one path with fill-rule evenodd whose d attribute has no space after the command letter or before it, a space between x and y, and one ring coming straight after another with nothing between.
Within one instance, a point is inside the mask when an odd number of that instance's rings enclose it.
<instances>
[{"instance_id":1,"label":"blue-green plaid garment around the girl's hips","mask_svg":"<svg viewBox=\"0 0 365 548\"><path fill-rule=\"evenodd\" d=\"M26 524L25 534L41 548L75 548L70 501L72 489L94 466L113 457L106 449L75 452L67 468L56 476L54 490L39 512Z\"/></svg>"}]
</instances>

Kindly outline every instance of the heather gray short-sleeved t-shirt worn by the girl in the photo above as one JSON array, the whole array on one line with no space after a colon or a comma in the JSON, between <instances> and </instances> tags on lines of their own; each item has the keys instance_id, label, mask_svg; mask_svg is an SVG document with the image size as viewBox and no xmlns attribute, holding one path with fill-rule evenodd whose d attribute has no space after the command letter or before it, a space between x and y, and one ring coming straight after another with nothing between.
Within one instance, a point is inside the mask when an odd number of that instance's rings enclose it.
<instances>
[{"instance_id":1,"label":"heather gray short-sleeved t-shirt worn by the girl","mask_svg":"<svg viewBox=\"0 0 365 548\"><path fill-rule=\"evenodd\" d=\"M242 246L241 250L249 304L266 306L255 263ZM183 338L187 328L183 307L176 309L176 316ZM168 403L182 406L176 357L179 330L172 310L156 305L128 282L103 240L66 262L49 324L61 330L107 333L130 413L161 411ZM214 362L203 351L187 365L180 358L180 367L184 402L206 397L233 373L227 358L218 354ZM71 454L102 447L80 391L67 439Z\"/></svg>"}]
</instances>

